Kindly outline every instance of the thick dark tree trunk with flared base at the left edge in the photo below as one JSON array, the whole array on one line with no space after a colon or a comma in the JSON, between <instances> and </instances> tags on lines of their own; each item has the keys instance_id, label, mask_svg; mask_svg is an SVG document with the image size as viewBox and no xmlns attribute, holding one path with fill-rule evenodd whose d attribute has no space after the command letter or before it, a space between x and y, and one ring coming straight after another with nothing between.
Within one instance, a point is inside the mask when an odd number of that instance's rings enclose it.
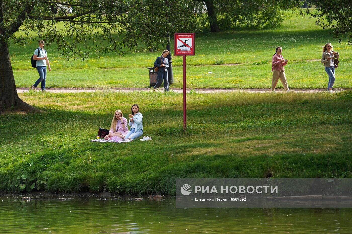
<instances>
[{"instance_id":1,"label":"thick dark tree trunk with flared base at the left edge","mask_svg":"<svg viewBox=\"0 0 352 234\"><path fill-rule=\"evenodd\" d=\"M11 107L24 111L36 111L33 106L25 103L17 95L7 43L2 41L0 42L0 112Z\"/></svg>"}]
</instances>

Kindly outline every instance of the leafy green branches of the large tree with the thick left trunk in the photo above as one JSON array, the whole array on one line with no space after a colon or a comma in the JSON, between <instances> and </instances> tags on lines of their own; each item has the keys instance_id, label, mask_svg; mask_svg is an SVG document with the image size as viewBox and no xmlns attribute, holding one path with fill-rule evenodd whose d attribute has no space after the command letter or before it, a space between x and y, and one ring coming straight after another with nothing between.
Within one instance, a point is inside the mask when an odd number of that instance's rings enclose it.
<instances>
[{"instance_id":1,"label":"leafy green branches of the large tree with the thick left trunk","mask_svg":"<svg viewBox=\"0 0 352 234\"><path fill-rule=\"evenodd\" d=\"M123 54L124 48L136 51L140 43L148 50L155 50L160 44L166 45L165 32L189 31L192 27L193 9L188 3L187 0L171 0L168 5L165 1L151 0L72 0L67 4L52 3L48 8L48 3L40 0L4 0L3 15L0 14L0 22L4 23L0 31L6 33L0 35L0 41L11 38L23 46L40 38L47 45L56 44L67 59L83 60L92 51L99 54ZM66 13L68 5L76 5L73 14Z\"/></svg>"}]
</instances>

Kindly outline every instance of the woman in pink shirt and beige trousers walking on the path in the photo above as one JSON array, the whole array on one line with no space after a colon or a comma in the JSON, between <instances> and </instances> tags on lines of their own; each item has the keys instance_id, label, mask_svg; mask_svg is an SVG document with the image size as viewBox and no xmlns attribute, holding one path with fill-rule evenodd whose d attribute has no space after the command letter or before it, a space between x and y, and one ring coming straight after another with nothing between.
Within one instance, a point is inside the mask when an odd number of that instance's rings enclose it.
<instances>
[{"instance_id":1,"label":"woman in pink shirt and beige trousers walking on the path","mask_svg":"<svg viewBox=\"0 0 352 234\"><path fill-rule=\"evenodd\" d=\"M280 78L282 85L285 87L286 92L290 92L287 85L287 80L285 76L284 66L287 64L287 59L281 54L281 46L276 47L275 54L272 56L271 71L272 71L272 81L271 81L271 91L275 92L276 84Z\"/></svg>"}]
</instances>

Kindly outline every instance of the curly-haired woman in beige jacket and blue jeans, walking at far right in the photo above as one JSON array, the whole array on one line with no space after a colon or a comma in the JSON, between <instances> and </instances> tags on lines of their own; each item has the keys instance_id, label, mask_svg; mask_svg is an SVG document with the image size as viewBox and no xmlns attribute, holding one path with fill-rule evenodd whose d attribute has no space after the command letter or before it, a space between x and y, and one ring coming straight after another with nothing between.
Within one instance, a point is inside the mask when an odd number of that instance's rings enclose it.
<instances>
[{"instance_id":1,"label":"curly-haired woman in beige jacket and blue jeans, walking at far right","mask_svg":"<svg viewBox=\"0 0 352 234\"><path fill-rule=\"evenodd\" d=\"M339 58L339 53L334 52L331 43L326 43L323 48L323 54L321 56L321 63L325 66L325 71L328 73L328 92L332 93L332 86L335 82L335 64L334 58Z\"/></svg>"}]
</instances>

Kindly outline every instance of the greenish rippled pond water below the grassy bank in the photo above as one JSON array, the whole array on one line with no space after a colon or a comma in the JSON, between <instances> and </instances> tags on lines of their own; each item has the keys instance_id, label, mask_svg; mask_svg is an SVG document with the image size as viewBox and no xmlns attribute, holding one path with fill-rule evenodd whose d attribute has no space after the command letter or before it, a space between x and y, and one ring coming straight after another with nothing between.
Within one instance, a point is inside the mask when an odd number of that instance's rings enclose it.
<instances>
[{"instance_id":1,"label":"greenish rippled pond water below the grassy bank","mask_svg":"<svg viewBox=\"0 0 352 234\"><path fill-rule=\"evenodd\" d=\"M176 208L175 197L23 196L0 195L0 233L352 232L352 208Z\"/></svg>"}]
</instances>

